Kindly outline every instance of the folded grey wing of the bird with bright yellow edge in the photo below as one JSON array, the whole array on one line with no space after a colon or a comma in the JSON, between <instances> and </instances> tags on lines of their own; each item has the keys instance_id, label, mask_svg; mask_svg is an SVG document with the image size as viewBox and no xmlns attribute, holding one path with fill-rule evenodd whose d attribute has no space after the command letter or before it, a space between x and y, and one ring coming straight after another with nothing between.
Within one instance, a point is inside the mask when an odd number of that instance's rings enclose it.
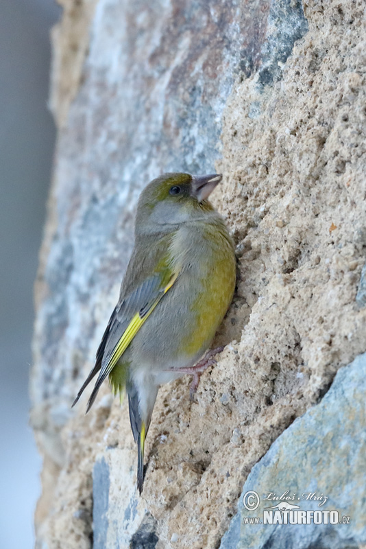
<instances>
[{"instance_id":1,"label":"folded grey wing of the bird with bright yellow edge","mask_svg":"<svg viewBox=\"0 0 366 549\"><path fill-rule=\"evenodd\" d=\"M130 284L130 292L126 295L128 287L124 288L122 285L119 303L112 312L97 350L95 366L77 394L73 406L80 399L88 383L100 370L88 401L86 410L88 412L104 379L114 369L138 330L178 278L179 270L175 270L171 266L167 243L165 242L155 249L156 253L154 255L148 252L145 256L142 256L137 250L132 256L125 279L131 279L130 274L134 275L134 289L131 288ZM145 268L143 268L144 266ZM142 273L146 272L146 268L151 268L148 272L152 271L154 274L138 283L138 280L142 279Z\"/></svg>"}]
</instances>

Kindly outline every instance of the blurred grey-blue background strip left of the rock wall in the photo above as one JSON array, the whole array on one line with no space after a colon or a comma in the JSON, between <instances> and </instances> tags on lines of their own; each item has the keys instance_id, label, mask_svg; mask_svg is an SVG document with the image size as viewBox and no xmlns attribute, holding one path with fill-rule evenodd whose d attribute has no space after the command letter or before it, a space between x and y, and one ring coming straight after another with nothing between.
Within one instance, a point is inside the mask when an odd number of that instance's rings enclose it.
<instances>
[{"instance_id":1,"label":"blurred grey-blue background strip left of the rock wall","mask_svg":"<svg viewBox=\"0 0 366 549\"><path fill-rule=\"evenodd\" d=\"M34 546L40 457L28 426L33 283L51 179L53 0L0 1L0 548Z\"/></svg>"}]
</instances>

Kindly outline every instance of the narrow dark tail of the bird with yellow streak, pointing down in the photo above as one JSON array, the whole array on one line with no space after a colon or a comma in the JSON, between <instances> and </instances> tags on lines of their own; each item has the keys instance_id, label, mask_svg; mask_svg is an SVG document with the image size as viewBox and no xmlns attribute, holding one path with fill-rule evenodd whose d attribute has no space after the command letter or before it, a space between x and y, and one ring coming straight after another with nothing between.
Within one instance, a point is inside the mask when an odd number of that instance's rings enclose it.
<instances>
[{"instance_id":1,"label":"narrow dark tail of the bird with yellow streak, pointing down","mask_svg":"<svg viewBox=\"0 0 366 549\"><path fill-rule=\"evenodd\" d=\"M145 478L145 469L144 469L144 452L145 452L145 439L147 431L149 430L150 420L152 411L154 409L154 404L156 400L156 395L158 394L158 387L150 387L148 397L147 395L140 395L135 384L129 384L127 386L128 393L128 407L130 410L130 423L132 428L132 433L134 434L134 440L137 443L138 448L138 458L137 458L137 487L141 495L143 491L143 482ZM144 398L145 397L145 398ZM144 417L141 417L141 399L144 401L143 408L145 413Z\"/></svg>"}]
</instances>

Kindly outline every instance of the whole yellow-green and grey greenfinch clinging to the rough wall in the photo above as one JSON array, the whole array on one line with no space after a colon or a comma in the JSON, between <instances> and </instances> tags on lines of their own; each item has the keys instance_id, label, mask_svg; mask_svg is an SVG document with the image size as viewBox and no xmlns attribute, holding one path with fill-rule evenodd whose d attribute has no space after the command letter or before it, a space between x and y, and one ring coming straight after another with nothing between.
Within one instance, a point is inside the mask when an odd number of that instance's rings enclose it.
<instances>
[{"instance_id":1,"label":"whole yellow-green and grey greenfinch clinging to the rough wall","mask_svg":"<svg viewBox=\"0 0 366 549\"><path fill-rule=\"evenodd\" d=\"M73 403L98 372L86 412L107 376L115 395L127 391L140 493L145 437L158 388L185 373L194 375L197 384L197 374L212 364L197 360L208 349L234 294L234 244L223 218L207 200L221 178L169 173L142 191L134 250L119 301L95 366Z\"/></svg>"}]
</instances>

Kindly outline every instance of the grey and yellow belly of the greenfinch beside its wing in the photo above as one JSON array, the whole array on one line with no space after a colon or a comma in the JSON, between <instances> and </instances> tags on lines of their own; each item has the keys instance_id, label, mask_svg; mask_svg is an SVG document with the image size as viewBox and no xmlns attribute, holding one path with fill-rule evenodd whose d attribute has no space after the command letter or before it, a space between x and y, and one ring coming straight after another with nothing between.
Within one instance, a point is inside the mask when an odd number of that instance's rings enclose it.
<instances>
[{"instance_id":1,"label":"grey and yellow belly of the greenfinch beside its wing","mask_svg":"<svg viewBox=\"0 0 366 549\"><path fill-rule=\"evenodd\" d=\"M133 364L162 373L192 366L210 345L232 300L233 257L215 261L215 269L195 265L180 274L132 342ZM168 298L168 299L166 299ZM178 377L170 373L167 381ZM169 374L167 373L167 376ZM160 381L164 383L164 381ZM160 384L159 383L159 384Z\"/></svg>"}]
</instances>

